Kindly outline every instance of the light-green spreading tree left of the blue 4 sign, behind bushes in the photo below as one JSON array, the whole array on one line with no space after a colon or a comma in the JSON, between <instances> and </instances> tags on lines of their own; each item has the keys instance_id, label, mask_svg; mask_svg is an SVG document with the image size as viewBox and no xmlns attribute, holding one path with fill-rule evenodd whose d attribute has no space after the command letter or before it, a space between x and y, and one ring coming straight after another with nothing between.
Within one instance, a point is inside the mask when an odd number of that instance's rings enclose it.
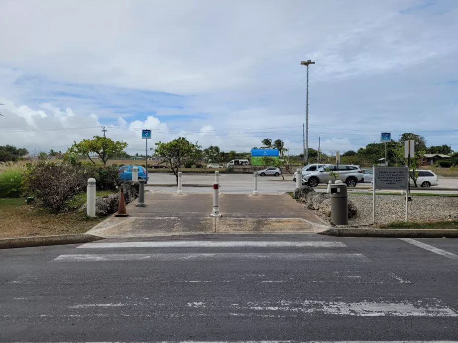
<instances>
[{"instance_id":1,"label":"light-green spreading tree left of the blue 4 sign, behind bushes","mask_svg":"<svg viewBox=\"0 0 458 343\"><path fill-rule=\"evenodd\" d=\"M96 163L91 159L90 154L97 154L106 166L107 161L114 155L123 153L125 147L127 143L123 141L114 142L107 137L94 136L94 139L83 139L79 143L74 141L67 153L86 155L93 164Z\"/></svg>"}]
</instances>

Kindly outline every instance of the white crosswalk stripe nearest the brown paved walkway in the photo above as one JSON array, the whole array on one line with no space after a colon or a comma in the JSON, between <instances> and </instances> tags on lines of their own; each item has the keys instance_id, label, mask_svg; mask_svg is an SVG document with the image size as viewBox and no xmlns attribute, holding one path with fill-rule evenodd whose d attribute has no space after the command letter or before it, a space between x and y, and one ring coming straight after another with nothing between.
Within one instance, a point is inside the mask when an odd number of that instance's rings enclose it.
<instances>
[{"instance_id":1,"label":"white crosswalk stripe nearest the brown paved walkway","mask_svg":"<svg viewBox=\"0 0 458 343\"><path fill-rule=\"evenodd\" d=\"M326 241L172 241L172 242L111 242L111 243L86 243L77 248L266 248L266 247L316 247L316 248L345 248L342 242Z\"/></svg>"}]
</instances>

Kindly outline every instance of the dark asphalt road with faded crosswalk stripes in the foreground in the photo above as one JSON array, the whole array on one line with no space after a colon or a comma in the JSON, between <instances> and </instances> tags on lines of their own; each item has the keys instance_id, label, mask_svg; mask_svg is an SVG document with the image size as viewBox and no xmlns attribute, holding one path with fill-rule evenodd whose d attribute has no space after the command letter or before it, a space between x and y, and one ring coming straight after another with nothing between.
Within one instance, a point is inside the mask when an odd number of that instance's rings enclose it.
<instances>
[{"instance_id":1,"label":"dark asphalt road with faded crosswalk stripes in the foreground","mask_svg":"<svg viewBox=\"0 0 458 343\"><path fill-rule=\"evenodd\" d=\"M0 342L457 341L458 240L0 250Z\"/></svg>"}]
</instances>

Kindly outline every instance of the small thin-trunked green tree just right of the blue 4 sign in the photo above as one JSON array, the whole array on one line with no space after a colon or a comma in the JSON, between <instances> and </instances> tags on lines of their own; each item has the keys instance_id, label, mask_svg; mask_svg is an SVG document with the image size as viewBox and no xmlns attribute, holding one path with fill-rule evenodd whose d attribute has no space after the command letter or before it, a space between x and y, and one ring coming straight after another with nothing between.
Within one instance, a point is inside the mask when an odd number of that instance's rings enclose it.
<instances>
[{"instance_id":1,"label":"small thin-trunked green tree just right of the blue 4 sign","mask_svg":"<svg viewBox=\"0 0 458 343\"><path fill-rule=\"evenodd\" d=\"M181 166L198 161L201 157L201 146L190 143L186 138L179 137L168 143L156 143L156 155L164 158L172 169L178 184L178 171Z\"/></svg>"}]
</instances>

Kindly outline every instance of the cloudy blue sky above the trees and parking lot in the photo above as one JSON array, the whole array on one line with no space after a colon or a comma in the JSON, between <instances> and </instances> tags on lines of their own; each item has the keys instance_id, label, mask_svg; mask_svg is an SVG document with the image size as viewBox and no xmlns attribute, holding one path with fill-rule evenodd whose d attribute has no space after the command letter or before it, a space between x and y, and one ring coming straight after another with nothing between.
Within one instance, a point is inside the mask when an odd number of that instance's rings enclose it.
<instances>
[{"instance_id":1,"label":"cloudy blue sky above the trees and parking lot","mask_svg":"<svg viewBox=\"0 0 458 343\"><path fill-rule=\"evenodd\" d=\"M110 3L110 4L108 4ZM186 137L357 150L404 132L458 151L458 1L0 0L0 145Z\"/></svg>"}]
</instances>

